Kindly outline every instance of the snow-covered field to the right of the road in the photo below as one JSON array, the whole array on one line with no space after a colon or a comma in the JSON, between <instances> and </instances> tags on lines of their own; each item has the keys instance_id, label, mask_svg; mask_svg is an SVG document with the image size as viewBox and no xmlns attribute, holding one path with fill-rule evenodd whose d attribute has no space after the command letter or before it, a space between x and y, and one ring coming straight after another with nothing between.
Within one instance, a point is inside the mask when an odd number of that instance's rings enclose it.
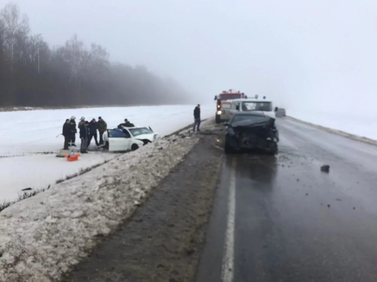
<instances>
[{"instance_id":1,"label":"snow-covered field to the right of the road","mask_svg":"<svg viewBox=\"0 0 377 282\"><path fill-rule=\"evenodd\" d=\"M287 115L309 123L337 129L353 135L377 140L377 114L352 112L297 111L287 109Z\"/></svg>"}]
</instances>

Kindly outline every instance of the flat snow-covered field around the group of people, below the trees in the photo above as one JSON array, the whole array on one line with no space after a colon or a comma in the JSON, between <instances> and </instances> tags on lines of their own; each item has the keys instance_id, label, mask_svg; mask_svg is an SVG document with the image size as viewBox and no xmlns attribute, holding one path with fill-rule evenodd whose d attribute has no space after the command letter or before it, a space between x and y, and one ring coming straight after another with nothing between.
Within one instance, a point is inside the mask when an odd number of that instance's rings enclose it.
<instances>
[{"instance_id":1,"label":"flat snow-covered field around the group of people, below the trees","mask_svg":"<svg viewBox=\"0 0 377 282\"><path fill-rule=\"evenodd\" d=\"M160 135L174 132L193 122L195 106L138 106L101 107L60 110L31 110L0 112L0 202L17 197L21 189L47 188L66 175L112 159L107 152L90 152L77 162L56 158L55 152L63 148L61 133L63 123L72 115L77 122L101 116L108 128L115 128L128 118L136 126L150 126ZM201 106L201 117L214 114L214 105ZM78 134L78 145L80 139ZM92 141L93 144L93 141ZM54 153L49 153L54 152Z\"/></svg>"}]
</instances>

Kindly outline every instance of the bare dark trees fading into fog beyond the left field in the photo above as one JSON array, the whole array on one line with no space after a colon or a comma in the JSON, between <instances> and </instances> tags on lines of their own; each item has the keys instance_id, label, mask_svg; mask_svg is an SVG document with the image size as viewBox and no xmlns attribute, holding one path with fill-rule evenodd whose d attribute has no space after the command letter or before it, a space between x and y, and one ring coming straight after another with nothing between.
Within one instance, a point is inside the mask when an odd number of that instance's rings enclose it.
<instances>
[{"instance_id":1,"label":"bare dark trees fading into fog beyond the left field","mask_svg":"<svg viewBox=\"0 0 377 282\"><path fill-rule=\"evenodd\" d=\"M109 53L74 35L50 48L41 34L30 34L29 20L17 5L0 11L0 106L137 105L188 102L172 79L144 66L110 63Z\"/></svg>"}]
</instances>

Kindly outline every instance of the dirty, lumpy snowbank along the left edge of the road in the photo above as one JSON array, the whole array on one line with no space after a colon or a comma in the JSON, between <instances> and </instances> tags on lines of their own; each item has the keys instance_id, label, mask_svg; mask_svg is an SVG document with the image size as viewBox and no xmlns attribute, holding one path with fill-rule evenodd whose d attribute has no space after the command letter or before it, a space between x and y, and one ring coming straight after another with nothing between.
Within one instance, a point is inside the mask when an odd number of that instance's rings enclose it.
<instances>
[{"instance_id":1,"label":"dirty, lumpy snowbank along the left edge of the road","mask_svg":"<svg viewBox=\"0 0 377 282\"><path fill-rule=\"evenodd\" d=\"M203 129L206 124L211 122ZM198 140L159 140L0 212L0 281L59 280L96 237L132 214Z\"/></svg>"}]
</instances>

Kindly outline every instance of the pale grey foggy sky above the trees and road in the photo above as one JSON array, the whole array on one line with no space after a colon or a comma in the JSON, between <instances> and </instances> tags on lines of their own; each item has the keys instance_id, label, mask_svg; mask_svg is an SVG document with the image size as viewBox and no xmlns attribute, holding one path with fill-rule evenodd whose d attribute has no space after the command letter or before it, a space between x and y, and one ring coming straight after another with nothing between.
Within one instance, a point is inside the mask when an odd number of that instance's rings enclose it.
<instances>
[{"instance_id":1,"label":"pale grey foggy sky above the trees and road","mask_svg":"<svg viewBox=\"0 0 377 282\"><path fill-rule=\"evenodd\" d=\"M375 112L373 0L12 2L50 46L77 33L112 61L175 78L200 103L233 88L288 109Z\"/></svg>"}]
</instances>

